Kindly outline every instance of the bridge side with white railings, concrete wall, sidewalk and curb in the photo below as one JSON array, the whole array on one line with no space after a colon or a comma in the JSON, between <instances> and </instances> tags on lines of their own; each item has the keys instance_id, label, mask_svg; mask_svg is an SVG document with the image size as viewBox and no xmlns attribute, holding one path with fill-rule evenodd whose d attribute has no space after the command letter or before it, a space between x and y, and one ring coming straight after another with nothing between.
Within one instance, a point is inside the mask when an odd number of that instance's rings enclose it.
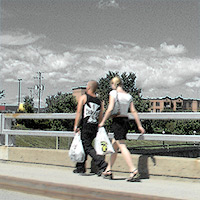
<instances>
[{"instance_id":1,"label":"bridge side with white railings, concrete wall, sidewalk and curb","mask_svg":"<svg viewBox=\"0 0 200 200\"><path fill-rule=\"evenodd\" d=\"M139 113L140 119L199 119L200 113ZM37 193L58 199L198 199L200 158L132 155L142 175L141 183L127 183L128 169L121 154L113 168L114 180L90 174L73 174L67 150L11 147L15 135L73 137L71 131L11 130L12 119L74 119L75 114L2 114L0 185L2 188ZM131 118L131 117L130 117ZM112 133L109 133L112 138ZM190 141L200 135L128 134L131 140ZM58 142L58 141L57 141ZM58 144L57 144L58 147ZM108 159L108 158L106 158ZM90 161L90 160L89 160ZM88 162L90 163L90 162ZM78 192L77 192L78 191Z\"/></svg>"}]
</instances>

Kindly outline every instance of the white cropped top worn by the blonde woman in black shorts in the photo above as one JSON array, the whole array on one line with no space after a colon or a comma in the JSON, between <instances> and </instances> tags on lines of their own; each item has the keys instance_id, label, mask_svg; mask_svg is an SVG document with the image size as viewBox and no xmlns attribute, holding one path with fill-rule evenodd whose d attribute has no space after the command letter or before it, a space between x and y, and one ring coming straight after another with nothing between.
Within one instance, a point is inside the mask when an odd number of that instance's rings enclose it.
<instances>
[{"instance_id":1,"label":"white cropped top worn by the blonde woman in black shorts","mask_svg":"<svg viewBox=\"0 0 200 200\"><path fill-rule=\"evenodd\" d=\"M112 90L109 95L114 97L115 101L116 97L118 98L120 104L120 115L127 116L130 103L133 101L132 96L128 93L117 92L116 90Z\"/></svg>"}]
</instances>

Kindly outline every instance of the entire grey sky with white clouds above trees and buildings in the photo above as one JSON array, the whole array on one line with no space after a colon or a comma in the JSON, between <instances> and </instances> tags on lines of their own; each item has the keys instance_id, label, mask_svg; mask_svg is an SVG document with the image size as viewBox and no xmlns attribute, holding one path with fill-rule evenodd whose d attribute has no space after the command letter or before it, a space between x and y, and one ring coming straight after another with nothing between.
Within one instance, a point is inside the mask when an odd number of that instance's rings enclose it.
<instances>
[{"instance_id":1,"label":"entire grey sky with white clouds above trees and buildings","mask_svg":"<svg viewBox=\"0 0 200 200\"><path fill-rule=\"evenodd\" d=\"M199 0L0 0L1 104L72 92L108 71L144 98L200 99Z\"/></svg>"}]
</instances>

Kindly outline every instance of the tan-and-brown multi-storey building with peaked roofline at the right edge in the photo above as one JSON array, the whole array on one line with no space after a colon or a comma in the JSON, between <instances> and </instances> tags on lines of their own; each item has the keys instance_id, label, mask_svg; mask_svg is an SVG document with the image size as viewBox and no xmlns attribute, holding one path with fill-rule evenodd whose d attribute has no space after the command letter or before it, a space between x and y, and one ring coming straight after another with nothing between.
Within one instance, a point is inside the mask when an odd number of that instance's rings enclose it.
<instances>
[{"instance_id":1,"label":"tan-and-brown multi-storey building with peaked roofline at the right edge","mask_svg":"<svg viewBox=\"0 0 200 200\"><path fill-rule=\"evenodd\" d=\"M149 111L163 112L163 111L200 111L200 99L187 99L181 96L170 98L168 96L163 98L148 98L150 102Z\"/></svg>"}]
</instances>

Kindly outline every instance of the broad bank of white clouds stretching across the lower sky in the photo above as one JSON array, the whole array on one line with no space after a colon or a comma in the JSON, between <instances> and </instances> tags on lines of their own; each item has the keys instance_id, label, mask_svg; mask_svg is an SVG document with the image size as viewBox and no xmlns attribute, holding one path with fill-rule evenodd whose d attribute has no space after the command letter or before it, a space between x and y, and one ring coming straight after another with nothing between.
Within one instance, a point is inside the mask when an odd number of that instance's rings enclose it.
<instances>
[{"instance_id":1,"label":"broad bank of white clouds stretching across the lower sky","mask_svg":"<svg viewBox=\"0 0 200 200\"><path fill-rule=\"evenodd\" d=\"M79 47L60 54L30 44L16 48L6 46L1 50L1 80L11 84L22 78L23 82L33 85L37 81L34 80L36 72L41 71L46 96L70 91L91 79L98 80L108 71L135 73L137 87L146 96L170 95L169 91L174 94L178 91L178 96L179 92L200 86L200 59L184 57L183 45L175 47L163 43L159 48L143 48L119 42L92 49Z\"/></svg>"}]
</instances>

